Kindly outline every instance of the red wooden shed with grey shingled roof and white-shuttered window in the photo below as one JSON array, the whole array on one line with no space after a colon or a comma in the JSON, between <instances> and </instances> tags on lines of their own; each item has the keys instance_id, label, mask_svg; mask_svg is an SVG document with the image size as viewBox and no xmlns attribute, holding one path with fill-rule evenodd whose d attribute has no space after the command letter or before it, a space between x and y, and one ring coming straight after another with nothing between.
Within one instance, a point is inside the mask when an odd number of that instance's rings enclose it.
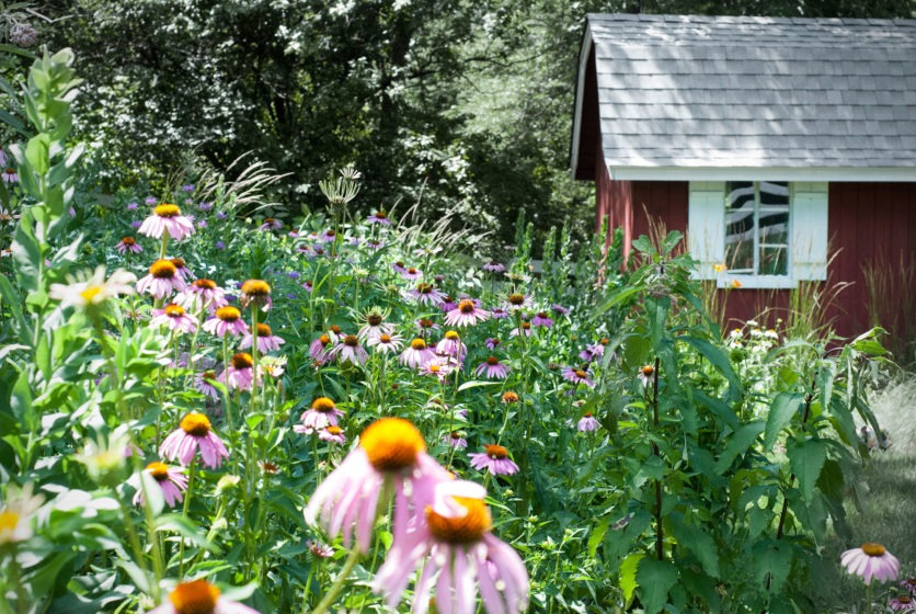
<instances>
[{"instance_id":1,"label":"red wooden shed with grey shingled roof and white-shuttered window","mask_svg":"<svg viewBox=\"0 0 916 614\"><path fill-rule=\"evenodd\" d=\"M838 333L916 333L916 21L591 14L572 170L627 250L684 231L730 318L845 283Z\"/></svg>"}]
</instances>

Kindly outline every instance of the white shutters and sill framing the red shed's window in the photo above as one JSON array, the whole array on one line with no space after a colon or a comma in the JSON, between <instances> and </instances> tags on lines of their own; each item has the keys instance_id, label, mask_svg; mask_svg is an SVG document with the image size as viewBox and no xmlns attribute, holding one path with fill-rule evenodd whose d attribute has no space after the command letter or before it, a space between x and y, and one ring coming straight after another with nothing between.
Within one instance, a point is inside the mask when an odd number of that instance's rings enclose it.
<instances>
[{"instance_id":1,"label":"white shutters and sill framing the red shed's window","mask_svg":"<svg viewBox=\"0 0 916 614\"><path fill-rule=\"evenodd\" d=\"M786 275L734 274L725 264L725 182L691 181L687 213L690 253L699 261L695 276L717 287L793 288L800 281L827 278L827 183L789 182L789 266Z\"/></svg>"}]
</instances>

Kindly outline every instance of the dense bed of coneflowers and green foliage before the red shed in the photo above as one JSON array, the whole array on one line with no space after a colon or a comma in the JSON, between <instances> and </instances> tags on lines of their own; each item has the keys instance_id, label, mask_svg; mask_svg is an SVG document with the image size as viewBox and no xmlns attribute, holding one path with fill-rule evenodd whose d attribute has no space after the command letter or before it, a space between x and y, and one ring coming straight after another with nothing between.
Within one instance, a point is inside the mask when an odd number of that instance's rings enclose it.
<instances>
[{"instance_id":1,"label":"dense bed of coneflowers and green foliage before the red shed","mask_svg":"<svg viewBox=\"0 0 916 614\"><path fill-rule=\"evenodd\" d=\"M219 587L261 612L381 611L391 588L374 578L416 535L403 501L440 465L468 480L440 484L485 487L489 512L453 497L476 523L458 531L438 499L410 508L435 538L389 603L425 611L432 569L448 611L448 569L459 612L478 584L516 612L523 576L539 612L813 611L813 564L829 528L844 535L866 453L854 420L878 429L874 332L835 348L748 323L723 339L677 234L639 239L622 268L619 232L574 257L553 229L536 274L520 220L512 253L473 261L447 218L357 214L352 168L293 225L244 217L270 182L256 168L84 205L72 62L32 69L2 193L10 610L174 612L201 595L213 610ZM391 417L422 435L407 459L365 430ZM360 454L374 464L345 476L352 499L322 490ZM367 499L399 488L393 513ZM369 522L309 511L322 500L369 501ZM482 545L474 564L438 558ZM518 557L527 573L505 566Z\"/></svg>"}]
</instances>

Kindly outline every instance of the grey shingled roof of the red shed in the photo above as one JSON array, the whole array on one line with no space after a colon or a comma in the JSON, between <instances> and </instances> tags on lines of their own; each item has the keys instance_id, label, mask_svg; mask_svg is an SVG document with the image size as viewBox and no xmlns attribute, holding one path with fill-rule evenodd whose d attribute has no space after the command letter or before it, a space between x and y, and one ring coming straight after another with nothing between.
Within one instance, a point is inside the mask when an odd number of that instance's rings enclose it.
<instances>
[{"instance_id":1,"label":"grey shingled roof of the red shed","mask_svg":"<svg viewBox=\"0 0 916 614\"><path fill-rule=\"evenodd\" d=\"M589 14L576 178L599 150L611 179L916 181L916 21Z\"/></svg>"}]
</instances>

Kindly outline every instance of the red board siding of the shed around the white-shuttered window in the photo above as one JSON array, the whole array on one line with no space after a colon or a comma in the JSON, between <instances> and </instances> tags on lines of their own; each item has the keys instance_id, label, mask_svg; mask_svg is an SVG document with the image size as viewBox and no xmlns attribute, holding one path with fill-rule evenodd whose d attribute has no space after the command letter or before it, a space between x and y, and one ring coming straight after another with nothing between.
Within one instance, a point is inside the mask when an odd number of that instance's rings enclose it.
<instances>
[{"instance_id":1,"label":"red board siding of the shed around the white-shuttered window","mask_svg":"<svg viewBox=\"0 0 916 614\"><path fill-rule=\"evenodd\" d=\"M610 216L611 228L622 227L627 254L633 239L652 237L659 223L665 231L687 230L686 182L614 181L598 155L596 163L598 215ZM837 295L832 310L837 333L858 336L872 326L868 309L868 292L862 265L878 263L885 269L916 269L916 184L909 183L832 183L828 194L828 236L833 260L829 284L851 284ZM902 264L901 264L902 263ZM884 303L900 306L900 312L912 315L913 296L889 296ZM788 291L738 288L728 295L728 327L765 312L766 323L787 319ZM885 328L893 328L893 316L878 318ZM897 318L900 319L900 318ZM762 322L764 323L764 322ZM900 327L900 322L897 322ZM912 325L916 328L916 325ZM912 329L911 329L912 330ZM892 331L893 333L894 331Z\"/></svg>"}]
</instances>

